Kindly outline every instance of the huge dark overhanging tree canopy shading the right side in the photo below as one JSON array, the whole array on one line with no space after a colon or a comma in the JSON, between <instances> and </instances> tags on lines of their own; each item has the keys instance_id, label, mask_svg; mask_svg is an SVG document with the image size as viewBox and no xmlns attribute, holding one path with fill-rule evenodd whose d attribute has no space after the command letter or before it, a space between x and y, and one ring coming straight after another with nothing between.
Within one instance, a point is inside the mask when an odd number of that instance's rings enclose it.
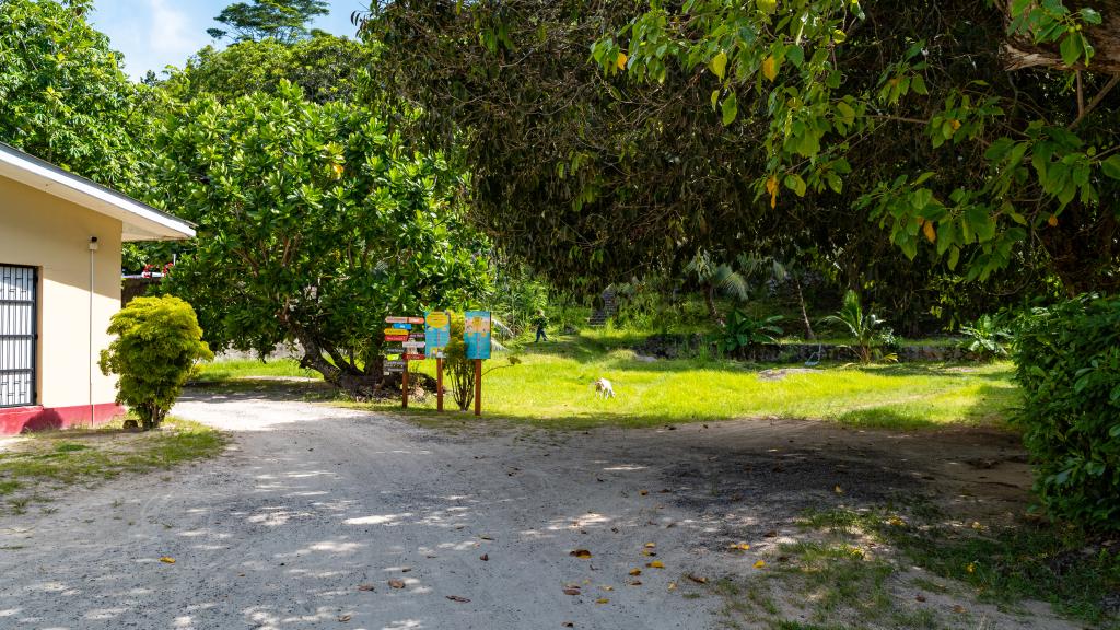
<instances>
[{"instance_id":1,"label":"huge dark overhanging tree canopy shading the right side","mask_svg":"<svg viewBox=\"0 0 1120 630\"><path fill-rule=\"evenodd\" d=\"M365 33L423 133L463 148L476 221L554 276L792 241L853 287L1114 287L1120 91L1084 68L1096 15L1015 4L1009 25L964 0L398 0ZM1009 72L1023 31L1082 72Z\"/></svg>"}]
</instances>

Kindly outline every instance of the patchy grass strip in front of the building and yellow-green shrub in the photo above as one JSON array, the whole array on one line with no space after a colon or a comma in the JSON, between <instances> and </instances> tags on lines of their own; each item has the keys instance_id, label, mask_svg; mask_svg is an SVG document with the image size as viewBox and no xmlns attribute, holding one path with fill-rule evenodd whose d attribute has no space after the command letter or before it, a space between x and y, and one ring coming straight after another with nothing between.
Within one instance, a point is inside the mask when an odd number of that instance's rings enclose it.
<instances>
[{"instance_id":1,"label":"patchy grass strip in front of the building and yellow-green shrub","mask_svg":"<svg viewBox=\"0 0 1120 630\"><path fill-rule=\"evenodd\" d=\"M92 488L123 474L213 457L225 443L221 432L179 418L148 433L96 428L20 436L0 451L0 511L22 513L67 487Z\"/></svg>"}]
</instances>

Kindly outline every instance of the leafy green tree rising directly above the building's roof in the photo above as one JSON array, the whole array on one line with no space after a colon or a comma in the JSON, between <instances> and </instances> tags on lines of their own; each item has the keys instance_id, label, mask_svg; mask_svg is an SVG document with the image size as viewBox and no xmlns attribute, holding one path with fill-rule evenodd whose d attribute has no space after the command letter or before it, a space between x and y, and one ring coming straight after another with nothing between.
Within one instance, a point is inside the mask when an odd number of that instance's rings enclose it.
<instances>
[{"instance_id":1,"label":"leafy green tree rising directly above the building's roof","mask_svg":"<svg viewBox=\"0 0 1120 630\"><path fill-rule=\"evenodd\" d=\"M90 7L0 0L0 140L136 193L157 95L129 83Z\"/></svg>"}]
</instances>

